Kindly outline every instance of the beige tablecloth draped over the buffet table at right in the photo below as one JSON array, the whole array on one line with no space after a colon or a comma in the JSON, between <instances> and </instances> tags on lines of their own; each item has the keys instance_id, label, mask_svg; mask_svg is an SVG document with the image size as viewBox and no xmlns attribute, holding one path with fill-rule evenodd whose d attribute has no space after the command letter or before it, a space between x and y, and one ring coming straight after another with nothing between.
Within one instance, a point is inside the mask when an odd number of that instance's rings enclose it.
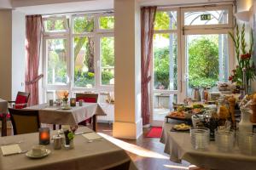
<instances>
[{"instance_id":1,"label":"beige tablecloth draped over the buffet table at right","mask_svg":"<svg viewBox=\"0 0 256 170\"><path fill-rule=\"evenodd\" d=\"M165 152L170 160L189 161L198 167L224 170L253 170L256 167L256 156L242 155L238 148L232 153L219 152L214 142L210 142L205 151L194 150L190 143L189 132L171 132L174 123L164 123L160 142L165 144Z\"/></svg>"}]
</instances>

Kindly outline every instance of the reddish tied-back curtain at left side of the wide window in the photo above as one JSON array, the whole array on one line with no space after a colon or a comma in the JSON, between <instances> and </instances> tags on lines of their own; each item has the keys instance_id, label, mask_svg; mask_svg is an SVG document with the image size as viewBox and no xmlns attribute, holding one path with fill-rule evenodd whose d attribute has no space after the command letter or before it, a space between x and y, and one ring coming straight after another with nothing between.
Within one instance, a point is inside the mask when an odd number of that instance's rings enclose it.
<instances>
[{"instance_id":1,"label":"reddish tied-back curtain at left side of the wide window","mask_svg":"<svg viewBox=\"0 0 256 170\"><path fill-rule=\"evenodd\" d=\"M28 105L38 105L38 76L40 46L42 39L42 16L26 16L26 92L30 93Z\"/></svg>"}]
</instances>

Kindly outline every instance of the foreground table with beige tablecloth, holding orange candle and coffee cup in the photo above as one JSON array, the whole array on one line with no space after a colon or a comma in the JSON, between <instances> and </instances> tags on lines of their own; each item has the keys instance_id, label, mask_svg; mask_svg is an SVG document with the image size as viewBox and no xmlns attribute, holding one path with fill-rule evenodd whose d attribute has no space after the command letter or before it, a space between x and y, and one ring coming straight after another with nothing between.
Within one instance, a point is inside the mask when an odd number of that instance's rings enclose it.
<instances>
[{"instance_id":1,"label":"foreground table with beige tablecloth, holding orange candle and coffee cup","mask_svg":"<svg viewBox=\"0 0 256 170\"><path fill-rule=\"evenodd\" d=\"M50 131L52 137L58 133L57 130ZM85 134L94 133L100 138L96 140L87 139ZM45 145L50 150L49 155L37 159L27 155L38 145L38 133L26 133L15 136L0 138L2 153L0 154L1 170L136 170L137 167L127 155L125 150L103 138L100 134L93 132L88 127L79 127L76 131L73 149L63 147L55 150L53 141ZM21 152L3 156L3 148L7 145L19 147ZM18 145L18 146L17 146Z\"/></svg>"}]
</instances>

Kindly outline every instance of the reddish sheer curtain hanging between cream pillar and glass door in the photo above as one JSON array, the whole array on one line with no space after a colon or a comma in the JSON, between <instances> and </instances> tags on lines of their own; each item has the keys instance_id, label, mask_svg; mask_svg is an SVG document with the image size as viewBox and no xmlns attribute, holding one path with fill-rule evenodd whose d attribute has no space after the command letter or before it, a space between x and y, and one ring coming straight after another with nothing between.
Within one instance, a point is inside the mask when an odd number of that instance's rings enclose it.
<instances>
[{"instance_id":1,"label":"reddish sheer curtain hanging between cream pillar and glass door","mask_svg":"<svg viewBox=\"0 0 256 170\"><path fill-rule=\"evenodd\" d=\"M141 41L142 41L142 117L143 125L149 123L150 118L150 99L148 83L151 80L149 73L152 64L154 20L156 7L143 7L141 9Z\"/></svg>"}]
</instances>

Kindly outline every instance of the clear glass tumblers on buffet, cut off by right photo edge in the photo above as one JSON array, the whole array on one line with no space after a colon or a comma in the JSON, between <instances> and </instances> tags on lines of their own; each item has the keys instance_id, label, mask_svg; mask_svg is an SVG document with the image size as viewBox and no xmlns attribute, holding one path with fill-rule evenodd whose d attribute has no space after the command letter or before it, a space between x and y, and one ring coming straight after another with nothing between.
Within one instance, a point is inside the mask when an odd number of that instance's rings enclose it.
<instances>
[{"instance_id":1,"label":"clear glass tumblers on buffet, cut off by right photo edge","mask_svg":"<svg viewBox=\"0 0 256 170\"><path fill-rule=\"evenodd\" d=\"M238 147L241 154L256 155L256 133L238 133Z\"/></svg>"}]
</instances>

